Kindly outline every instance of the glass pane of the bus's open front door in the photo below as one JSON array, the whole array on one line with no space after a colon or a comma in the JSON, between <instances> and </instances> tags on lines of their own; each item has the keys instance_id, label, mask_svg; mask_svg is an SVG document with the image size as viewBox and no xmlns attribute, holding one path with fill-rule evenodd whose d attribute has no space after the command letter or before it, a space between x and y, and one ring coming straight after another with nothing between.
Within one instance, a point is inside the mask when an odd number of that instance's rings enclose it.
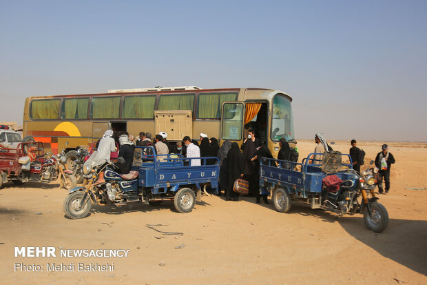
<instances>
[{"instance_id":1,"label":"glass pane of the bus's open front door","mask_svg":"<svg viewBox=\"0 0 427 285\"><path fill-rule=\"evenodd\" d=\"M242 103L225 103L222 107L221 139L239 141L242 139Z\"/></svg>"}]
</instances>

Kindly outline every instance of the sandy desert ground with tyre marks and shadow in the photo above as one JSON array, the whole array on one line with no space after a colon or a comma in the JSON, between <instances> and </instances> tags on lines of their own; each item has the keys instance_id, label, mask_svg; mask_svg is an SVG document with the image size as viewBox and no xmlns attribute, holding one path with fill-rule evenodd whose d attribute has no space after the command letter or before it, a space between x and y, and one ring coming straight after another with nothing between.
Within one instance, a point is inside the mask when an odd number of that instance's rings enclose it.
<instances>
[{"instance_id":1,"label":"sandy desert ground with tyre marks and shadow","mask_svg":"<svg viewBox=\"0 0 427 285\"><path fill-rule=\"evenodd\" d=\"M382 143L361 142L366 160ZM8 183L0 190L1 284L427 284L427 148L393 143L391 189L380 195L390 215L381 234L362 215L338 217L304 204L278 213L254 198L203 197L193 212L173 204L95 207L66 219L58 184ZM300 157L314 149L299 141ZM347 141L335 150L348 152ZM41 215L36 215L41 213ZM162 235L147 224L183 235ZM185 245L183 248L177 246ZM127 257L14 257L15 246L129 249ZM46 264L114 264L109 272L47 272ZM14 271L39 264L40 272ZM164 266L160 266L162 263Z\"/></svg>"}]
</instances>

